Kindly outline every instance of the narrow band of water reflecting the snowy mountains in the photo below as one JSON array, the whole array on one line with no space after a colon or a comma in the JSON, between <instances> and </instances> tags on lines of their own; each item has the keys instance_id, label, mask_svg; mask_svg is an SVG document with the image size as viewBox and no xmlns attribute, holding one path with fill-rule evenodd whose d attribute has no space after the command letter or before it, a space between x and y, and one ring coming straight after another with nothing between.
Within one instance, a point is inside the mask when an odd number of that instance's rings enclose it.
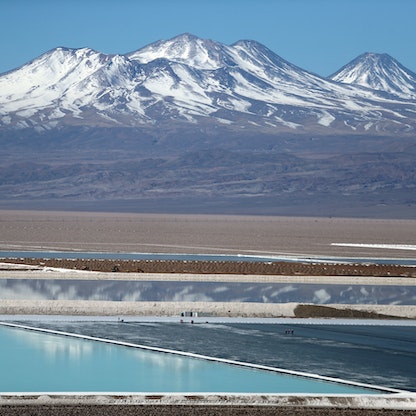
<instances>
[{"instance_id":1,"label":"narrow band of water reflecting the snowy mountains","mask_svg":"<svg viewBox=\"0 0 416 416\"><path fill-rule=\"evenodd\" d=\"M414 305L416 286L0 279L0 299Z\"/></svg>"}]
</instances>

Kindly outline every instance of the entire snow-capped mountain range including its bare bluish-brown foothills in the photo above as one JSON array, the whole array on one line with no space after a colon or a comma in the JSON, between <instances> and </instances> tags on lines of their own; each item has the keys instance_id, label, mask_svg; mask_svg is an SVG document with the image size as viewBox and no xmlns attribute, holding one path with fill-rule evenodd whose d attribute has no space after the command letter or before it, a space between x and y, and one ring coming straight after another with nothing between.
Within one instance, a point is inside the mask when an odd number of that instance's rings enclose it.
<instances>
[{"instance_id":1,"label":"entire snow-capped mountain range including its bare bluish-brown foothills","mask_svg":"<svg viewBox=\"0 0 416 416\"><path fill-rule=\"evenodd\" d=\"M51 50L0 75L0 208L414 218L414 74L360 61L328 79L189 34Z\"/></svg>"}]
</instances>

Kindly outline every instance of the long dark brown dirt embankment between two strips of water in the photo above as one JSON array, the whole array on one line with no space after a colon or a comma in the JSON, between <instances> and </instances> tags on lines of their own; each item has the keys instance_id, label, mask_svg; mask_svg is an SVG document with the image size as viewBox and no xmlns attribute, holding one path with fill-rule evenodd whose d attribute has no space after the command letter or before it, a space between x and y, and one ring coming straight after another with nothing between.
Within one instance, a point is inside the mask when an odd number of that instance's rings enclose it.
<instances>
[{"instance_id":1,"label":"long dark brown dirt embankment between two strips of water","mask_svg":"<svg viewBox=\"0 0 416 416\"><path fill-rule=\"evenodd\" d=\"M100 272L416 277L415 267L386 264L33 258L5 258L0 262Z\"/></svg>"}]
</instances>

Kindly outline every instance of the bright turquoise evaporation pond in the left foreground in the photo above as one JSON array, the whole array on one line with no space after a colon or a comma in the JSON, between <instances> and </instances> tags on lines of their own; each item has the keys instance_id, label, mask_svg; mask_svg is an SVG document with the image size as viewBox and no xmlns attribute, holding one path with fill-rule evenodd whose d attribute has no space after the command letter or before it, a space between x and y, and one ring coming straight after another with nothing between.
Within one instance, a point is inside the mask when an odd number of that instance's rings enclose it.
<instances>
[{"instance_id":1,"label":"bright turquoise evaporation pond in the left foreground","mask_svg":"<svg viewBox=\"0 0 416 416\"><path fill-rule=\"evenodd\" d=\"M274 371L1 326L0 392L378 393Z\"/></svg>"}]
</instances>

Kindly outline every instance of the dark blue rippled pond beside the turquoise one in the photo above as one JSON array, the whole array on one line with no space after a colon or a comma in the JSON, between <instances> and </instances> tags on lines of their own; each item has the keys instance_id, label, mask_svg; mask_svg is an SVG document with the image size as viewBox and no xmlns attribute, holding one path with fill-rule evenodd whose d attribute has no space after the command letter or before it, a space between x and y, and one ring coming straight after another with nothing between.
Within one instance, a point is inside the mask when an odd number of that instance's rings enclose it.
<instances>
[{"instance_id":1,"label":"dark blue rippled pond beside the turquoise one","mask_svg":"<svg viewBox=\"0 0 416 416\"><path fill-rule=\"evenodd\" d=\"M416 326L308 322L25 324L416 391Z\"/></svg>"}]
</instances>

